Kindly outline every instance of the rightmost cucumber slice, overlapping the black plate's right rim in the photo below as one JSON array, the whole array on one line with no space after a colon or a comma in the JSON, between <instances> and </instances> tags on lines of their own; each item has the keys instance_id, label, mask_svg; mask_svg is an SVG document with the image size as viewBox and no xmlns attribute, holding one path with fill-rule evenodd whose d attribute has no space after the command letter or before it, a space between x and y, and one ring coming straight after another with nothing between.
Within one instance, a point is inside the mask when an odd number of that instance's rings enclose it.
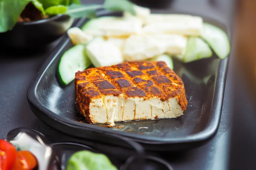
<instances>
[{"instance_id":1,"label":"rightmost cucumber slice, overlapping the black plate's right rim","mask_svg":"<svg viewBox=\"0 0 256 170\"><path fill-rule=\"evenodd\" d=\"M227 34L220 28L204 23L201 37L210 45L217 56L226 58L230 52L230 44Z\"/></svg>"}]
</instances>

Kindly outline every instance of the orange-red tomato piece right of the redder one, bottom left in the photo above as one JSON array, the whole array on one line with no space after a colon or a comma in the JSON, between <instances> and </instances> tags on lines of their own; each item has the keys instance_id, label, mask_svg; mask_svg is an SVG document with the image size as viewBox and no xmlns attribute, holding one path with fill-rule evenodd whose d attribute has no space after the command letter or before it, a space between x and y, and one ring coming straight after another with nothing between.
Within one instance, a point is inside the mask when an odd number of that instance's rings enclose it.
<instances>
[{"instance_id":1,"label":"orange-red tomato piece right of the redder one, bottom left","mask_svg":"<svg viewBox=\"0 0 256 170\"><path fill-rule=\"evenodd\" d=\"M37 159L29 151L18 151L12 170L32 170L37 166Z\"/></svg>"}]
</instances>

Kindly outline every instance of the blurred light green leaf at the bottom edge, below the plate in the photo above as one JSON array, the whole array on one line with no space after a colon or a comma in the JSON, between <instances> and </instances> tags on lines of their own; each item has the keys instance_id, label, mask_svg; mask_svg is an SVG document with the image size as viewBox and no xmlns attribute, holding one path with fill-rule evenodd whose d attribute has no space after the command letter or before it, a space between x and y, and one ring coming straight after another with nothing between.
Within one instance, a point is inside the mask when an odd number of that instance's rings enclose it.
<instances>
[{"instance_id":1,"label":"blurred light green leaf at the bottom edge, below the plate","mask_svg":"<svg viewBox=\"0 0 256 170\"><path fill-rule=\"evenodd\" d=\"M78 151L71 155L66 170L118 170L109 158L100 153Z\"/></svg>"}]
</instances>

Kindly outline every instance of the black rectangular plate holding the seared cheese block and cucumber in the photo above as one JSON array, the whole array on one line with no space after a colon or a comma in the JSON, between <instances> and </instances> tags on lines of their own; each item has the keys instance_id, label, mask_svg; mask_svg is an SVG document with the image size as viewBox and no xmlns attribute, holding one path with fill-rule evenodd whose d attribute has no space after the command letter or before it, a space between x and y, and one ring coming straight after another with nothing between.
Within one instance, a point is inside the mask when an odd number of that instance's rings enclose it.
<instances>
[{"instance_id":1,"label":"black rectangular plate holding the seared cheese block and cucumber","mask_svg":"<svg viewBox=\"0 0 256 170\"><path fill-rule=\"evenodd\" d=\"M205 17L203 19L227 31L224 24ZM86 21L81 19L76 26L81 27ZM103 124L81 123L84 119L75 107L74 81L66 87L58 82L59 60L72 46L65 35L29 86L27 97L31 110L46 124L77 138L123 146L123 143L115 142L108 135L120 134L142 143L146 150L162 151L193 148L216 133L222 111L228 58L220 60L214 54L209 59L188 64L174 60L174 71L184 82L188 100L183 116L117 122L118 128L109 128Z\"/></svg>"}]
</instances>

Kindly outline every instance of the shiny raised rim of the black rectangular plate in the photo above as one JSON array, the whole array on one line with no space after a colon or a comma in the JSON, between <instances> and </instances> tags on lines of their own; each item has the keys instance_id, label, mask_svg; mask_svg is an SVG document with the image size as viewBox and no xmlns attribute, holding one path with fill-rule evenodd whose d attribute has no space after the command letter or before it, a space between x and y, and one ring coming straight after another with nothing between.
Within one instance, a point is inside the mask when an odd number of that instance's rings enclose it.
<instances>
[{"instance_id":1,"label":"shiny raised rim of the black rectangular plate","mask_svg":"<svg viewBox=\"0 0 256 170\"><path fill-rule=\"evenodd\" d=\"M173 12L172 12L173 13ZM171 13L170 13L171 14ZM192 14L194 15L194 14ZM202 15L198 15L202 16ZM226 24L221 23L220 21L217 21L215 19L211 19L209 17L202 16L204 18L207 18L209 20L212 20L213 22L217 22L219 24L222 24L226 26ZM75 27L81 27L82 23L85 22L87 19L82 18L78 21L78 23L75 25ZM227 26L226 26L227 27ZM226 30L226 33L228 34L229 39L231 40L230 35L230 30ZM66 36L66 37L65 37ZM28 91L27 91L27 99L31 106L34 106L40 113L36 113L32 108L31 110L33 113L43 122L48 124L49 126L64 132L57 126L53 126L49 124L47 121L43 120L41 118L41 115L39 114L44 114L44 116L47 116L49 119L58 122L62 125L65 125L67 127L72 127L72 128L79 128L80 130L89 130L90 132L98 132L102 134L118 134L122 135L125 137L128 137L130 139L133 139L136 142L141 142L145 144L175 144L175 143L191 143L191 142L199 142L199 141L205 141L212 137L216 132L219 127L219 122L221 118L221 113L222 113L222 105L223 105L223 99L224 99L224 94L225 94L225 86L226 86L226 79L227 79L227 72L228 72L228 63L229 63L229 58L231 57L231 52L226 57L225 59L220 60L219 67L218 67L218 72L217 72L217 83L215 84L215 89L214 89L214 94L213 94L213 99L212 99L212 106L209 111L209 114L213 114L213 117L211 118L214 121L210 121L206 127L201 130L198 133L191 134L185 137L152 137L152 136L145 136L141 134L134 134L130 132L122 132L122 131L113 131L110 128L105 128L105 127L100 127L100 126L94 126L91 124L87 123L79 123L75 122L69 119L66 119L65 117L59 116L55 114L54 112L50 111L46 107L42 106L40 104L40 101L37 100L37 95L36 95L36 89L38 84L40 83L40 80L42 76L44 75L45 71L48 69L48 67L51 65L51 63L58 57L58 54L64 48L69 42L69 38L67 35L62 37L62 41L55 47L55 50L51 51L49 57L45 60L43 63L42 67L40 70L36 73L34 76L33 80L31 81ZM230 41L230 46L231 46L231 41ZM69 132L64 132L68 135L76 136L76 137L81 137L79 135L71 134ZM83 137L84 138L84 137Z\"/></svg>"}]
</instances>

